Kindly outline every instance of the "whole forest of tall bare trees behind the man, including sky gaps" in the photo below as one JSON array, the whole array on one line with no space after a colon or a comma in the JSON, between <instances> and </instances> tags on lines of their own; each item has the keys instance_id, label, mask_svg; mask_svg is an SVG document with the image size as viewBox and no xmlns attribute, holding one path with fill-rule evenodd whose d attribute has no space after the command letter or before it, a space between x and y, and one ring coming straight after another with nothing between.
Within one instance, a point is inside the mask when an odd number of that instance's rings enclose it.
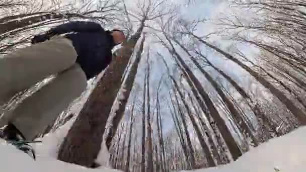
<instances>
[{"instance_id":1,"label":"whole forest of tall bare trees behind the man, including sky gaps","mask_svg":"<svg viewBox=\"0 0 306 172\"><path fill-rule=\"evenodd\" d=\"M61 161L105 165L105 142L122 171L213 167L306 124L304 0L0 0L0 58L69 21L127 39L40 133L74 120ZM2 119L53 77L6 102Z\"/></svg>"}]
</instances>

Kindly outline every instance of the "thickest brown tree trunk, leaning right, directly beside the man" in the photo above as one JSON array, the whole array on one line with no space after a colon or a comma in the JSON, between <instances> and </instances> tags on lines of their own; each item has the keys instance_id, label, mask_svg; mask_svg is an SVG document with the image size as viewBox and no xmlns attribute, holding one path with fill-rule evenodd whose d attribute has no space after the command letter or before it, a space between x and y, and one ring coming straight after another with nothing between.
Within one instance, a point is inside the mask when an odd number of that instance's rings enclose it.
<instances>
[{"instance_id":1,"label":"thickest brown tree trunk, leaning right, directly beside the man","mask_svg":"<svg viewBox=\"0 0 306 172\"><path fill-rule=\"evenodd\" d=\"M131 38L122 43L120 57L113 61L97 83L79 116L64 138L58 159L83 166L91 166L101 149L101 142L112 105L121 87L121 77L140 38L145 20Z\"/></svg>"}]
</instances>

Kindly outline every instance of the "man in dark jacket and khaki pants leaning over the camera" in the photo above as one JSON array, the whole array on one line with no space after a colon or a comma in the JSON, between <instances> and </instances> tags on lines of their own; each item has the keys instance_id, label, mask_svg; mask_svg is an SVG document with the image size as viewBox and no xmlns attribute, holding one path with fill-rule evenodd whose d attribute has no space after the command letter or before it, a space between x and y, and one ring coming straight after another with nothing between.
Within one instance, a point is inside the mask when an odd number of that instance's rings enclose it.
<instances>
[{"instance_id":1,"label":"man in dark jacket and khaki pants leaning over the camera","mask_svg":"<svg viewBox=\"0 0 306 172\"><path fill-rule=\"evenodd\" d=\"M120 30L105 31L94 22L70 22L35 36L33 45L0 58L0 105L57 74L9 115L2 138L13 144L33 140L82 94L87 80L110 64L112 48L124 40Z\"/></svg>"}]
</instances>

